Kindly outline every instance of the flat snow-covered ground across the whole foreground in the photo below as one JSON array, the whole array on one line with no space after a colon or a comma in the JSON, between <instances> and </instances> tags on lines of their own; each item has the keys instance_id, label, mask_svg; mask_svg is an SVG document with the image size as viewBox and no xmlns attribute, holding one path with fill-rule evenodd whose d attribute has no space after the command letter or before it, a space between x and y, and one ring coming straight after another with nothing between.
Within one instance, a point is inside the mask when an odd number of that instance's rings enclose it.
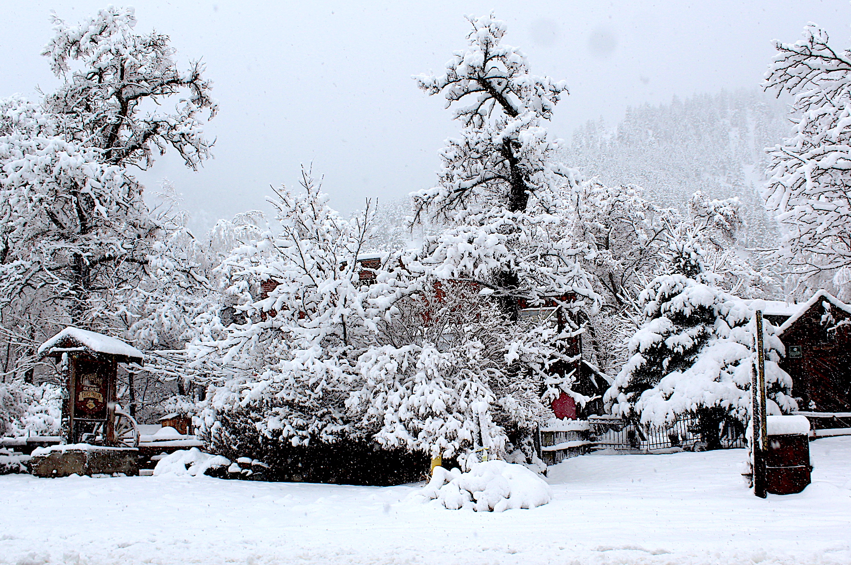
<instances>
[{"instance_id":1,"label":"flat snow-covered ground across the whole foreground","mask_svg":"<svg viewBox=\"0 0 851 565\"><path fill-rule=\"evenodd\" d=\"M851 437L762 500L745 452L588 455L532 510L450 511L414 486L0 477L0 563L851 563Z\"/></svg>"}]
</instances>

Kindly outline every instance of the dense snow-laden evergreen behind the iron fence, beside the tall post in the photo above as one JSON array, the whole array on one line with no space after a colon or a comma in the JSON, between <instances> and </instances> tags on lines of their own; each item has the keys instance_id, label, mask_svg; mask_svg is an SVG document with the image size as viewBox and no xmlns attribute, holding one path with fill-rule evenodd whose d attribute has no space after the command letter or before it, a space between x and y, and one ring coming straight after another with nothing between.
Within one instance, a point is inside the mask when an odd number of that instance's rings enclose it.
<instances>
[{"instance_id":1,"label":"dense snow-laden evergreen behind the iron fence, beside the tall post","mask_svg":"<svg viewBox=\"0 0 851 565\"><path fill-rule=\"evenodd\" d=\"M612 414L665 425L698 414L717 441L717 422L744 426L750 407L753 311L717 285L694 233L681 232L668 249L671 271L639 295L643 321L629 341L630 357L604 397ZM766 382L775 414L796 408L791 378L777 362L784 348L765 325ZM714 429L714 431L713 431Z\"/></svg>"}]
</instances>

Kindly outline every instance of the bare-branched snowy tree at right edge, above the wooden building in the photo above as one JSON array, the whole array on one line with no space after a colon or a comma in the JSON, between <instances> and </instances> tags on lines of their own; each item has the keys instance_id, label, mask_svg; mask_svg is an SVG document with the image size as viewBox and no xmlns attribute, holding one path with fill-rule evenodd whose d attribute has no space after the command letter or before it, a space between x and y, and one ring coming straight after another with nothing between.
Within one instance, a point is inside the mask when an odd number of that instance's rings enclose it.
<instances>
[{"instance_id":1,"label":"bare-branched snowy tree at right edge, above the wooden building","mask_svg":"<svg viewBox=\"0 0 851 565\"><path fill-rule=\"evenodd\" d=\"M807 278L851 287L851 50L814 24L778 51L763 86L794 96L791 137L768 148L768 208L785 227L779 261ZM823 281L816 281L819 285ZM815 288L818 288L816 286Z\"/></svg>"}]
</instances>

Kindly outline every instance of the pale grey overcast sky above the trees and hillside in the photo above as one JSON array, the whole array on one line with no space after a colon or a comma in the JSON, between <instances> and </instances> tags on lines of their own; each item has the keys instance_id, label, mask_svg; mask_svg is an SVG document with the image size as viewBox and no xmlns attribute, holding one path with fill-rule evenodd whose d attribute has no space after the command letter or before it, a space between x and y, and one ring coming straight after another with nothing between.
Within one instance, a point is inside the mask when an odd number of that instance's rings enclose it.
<instances>
[{"instance_id":1,"label":"pale grey overcast sky above the trees and hillside","mask_svg":"<svg viewBox=\"0 0 851 565\"><path fill-rule=\"evenodd\" d=\"M116 2L116 4L120 4ZM106 1L0 0L0 96L59 83L38 54L49 10L76 23ZM588 119L616 123L626 106L677 94L752 88L770 40L797 41L814 21L848 46L847 0L750 2L159 2L129 3L137 29L168 34L181 63L203 57L220 114L215 158L193 173L161 157L146 184L174 180L196 224L267 209L269 185L294 184L300 163L324 175L332 205L401 197L434 183L437 151L457 131L442 100L410 76L440 71L465 44L463 14L491 9L532 71L566 79L551 132Z\"/></svg>"}]
</instances>

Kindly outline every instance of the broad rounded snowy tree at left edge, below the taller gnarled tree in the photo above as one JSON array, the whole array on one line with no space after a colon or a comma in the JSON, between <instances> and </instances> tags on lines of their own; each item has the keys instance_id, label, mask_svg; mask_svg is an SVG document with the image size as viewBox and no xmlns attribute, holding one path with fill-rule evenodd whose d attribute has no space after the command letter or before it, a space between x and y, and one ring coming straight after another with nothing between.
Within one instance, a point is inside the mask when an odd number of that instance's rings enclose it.
<instances>
[{"instance_id":1,"label":"broad rounded snowy tree at left edge, below the taller gnarled tree","mask_svg":"<svg viewBox=\"0 0 851 565\"><path fill-rule=\"evenodd\" d=\"M49 322L90 324L138 277L132 265L144 260L157 230L141 187L101 163L98 148L66 140L40 106L10 99L0 108L0 304L37 294L54 304Z\"/></svg>"}]
</instances>

